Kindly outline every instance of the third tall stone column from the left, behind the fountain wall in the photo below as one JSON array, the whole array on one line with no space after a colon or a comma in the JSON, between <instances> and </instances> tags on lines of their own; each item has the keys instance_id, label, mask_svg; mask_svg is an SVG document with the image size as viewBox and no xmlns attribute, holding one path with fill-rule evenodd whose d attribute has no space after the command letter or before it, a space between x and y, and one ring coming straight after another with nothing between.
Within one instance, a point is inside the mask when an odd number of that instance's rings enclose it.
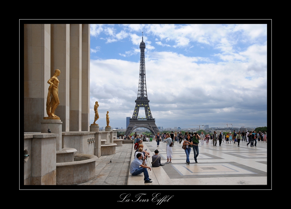
<instances>
[{"instance_id":1,"label":"third tall stone column from the left, behind the fountain wall","mask_svg":"<svg viewBox=\"0 0 291 209\"><path fill-rule=\"evenodd\" d=\"M70 131L81 131L82 25L70 24Z\"/></svg>"}]
</instances>

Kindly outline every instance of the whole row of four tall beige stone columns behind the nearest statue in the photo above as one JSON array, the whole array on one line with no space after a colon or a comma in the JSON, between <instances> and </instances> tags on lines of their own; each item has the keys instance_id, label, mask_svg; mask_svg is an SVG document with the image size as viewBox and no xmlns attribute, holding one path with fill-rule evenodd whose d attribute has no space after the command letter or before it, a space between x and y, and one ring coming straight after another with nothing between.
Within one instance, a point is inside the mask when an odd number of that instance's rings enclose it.
<instances>
[{"instance_id":1,"label":"whole row of four tall beige stone columns behind the nearest statue","mask_svg":"<svg viewBox=\"0 0 291 209\"><path fill-rule=\"evenodd\" d=\"M55 69L62 131L89 131L90 24L24 24L24 132L41 131Z\"/></svg>"}]
</instances>

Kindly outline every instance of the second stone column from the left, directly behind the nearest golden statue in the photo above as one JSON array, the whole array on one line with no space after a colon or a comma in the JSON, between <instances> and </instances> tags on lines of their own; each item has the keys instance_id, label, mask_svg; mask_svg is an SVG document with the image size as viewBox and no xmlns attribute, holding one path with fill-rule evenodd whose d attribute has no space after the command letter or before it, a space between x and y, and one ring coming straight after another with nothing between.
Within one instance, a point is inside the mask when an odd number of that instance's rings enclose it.
<instances>
[{"instance_id":1,"label":"second stone column from the left, directly behind the nearest golden statue","mask_svg":"<svg viewBox=\"0 0 291 209\"><path fill-rule=\"evenodd\" d=\"M61 71L58 76L58 97L60 104L56 115L62 120L62 130L70 127L70 24L51 24L51 76L55 69Z\"/></svg>"}]
</instances>

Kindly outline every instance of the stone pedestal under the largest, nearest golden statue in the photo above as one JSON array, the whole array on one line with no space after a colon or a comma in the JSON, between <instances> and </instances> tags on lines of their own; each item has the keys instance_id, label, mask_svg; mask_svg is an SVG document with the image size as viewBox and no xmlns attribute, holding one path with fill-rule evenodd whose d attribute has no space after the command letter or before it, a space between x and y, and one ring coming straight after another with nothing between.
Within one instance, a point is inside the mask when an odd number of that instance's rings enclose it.
<instances>
[{"instance_id":1,"label":"stone pedestal under the largest, nearest golden statue","mask_svg":"<svg viewBox=\"0 0 291 209\"><path fill-rule=\"evenodd\" d=\"M61 120L45 119L41 122L41 133L48 133L47 130L51 130L52 133L57 133L56 137L56 151L62 150L62 123Z\"/></svg>"}]
</instances>

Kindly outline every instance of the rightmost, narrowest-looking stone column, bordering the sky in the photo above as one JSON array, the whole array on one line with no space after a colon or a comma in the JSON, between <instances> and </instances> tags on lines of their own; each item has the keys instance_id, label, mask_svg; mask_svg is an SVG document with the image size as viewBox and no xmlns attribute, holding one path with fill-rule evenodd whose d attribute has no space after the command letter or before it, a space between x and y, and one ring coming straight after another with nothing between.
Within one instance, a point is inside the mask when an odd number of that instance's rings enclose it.
<instances>
[{"instance_id":1,"label":"rightmost, narrowest-looking stone column, bordering the sky","mask_svg":"<svg viewBox=\"0 0 291 209\"><path fill-rule=\"evenodd\" d=\"M82 131L90 125L90 24L82 24Z\"/></svg>"}]
</instances>

